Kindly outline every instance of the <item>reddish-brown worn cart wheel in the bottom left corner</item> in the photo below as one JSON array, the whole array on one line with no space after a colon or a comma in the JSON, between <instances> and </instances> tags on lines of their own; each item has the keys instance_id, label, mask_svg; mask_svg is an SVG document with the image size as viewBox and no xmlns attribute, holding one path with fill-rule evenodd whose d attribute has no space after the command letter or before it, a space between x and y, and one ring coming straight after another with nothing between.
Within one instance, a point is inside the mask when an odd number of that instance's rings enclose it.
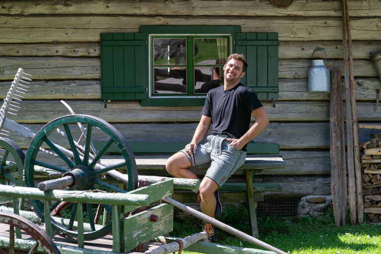
<instances>
[{"instance_id":1,"label":"reddish-brown worn cart wheel in the bottom left corner","mask_svg":"<svg viewBox=\"0 0 381 254\"><path fill-rule=\"evenodd\" d=\"M15 253L14 229L18 228L23 230L28 236L31 236L31 238L36 241L29 253L34 253L34 251L41 246L45 253L61 254L48 234L24 217L16 214L0 212L0 223L9 225L9 253ZM30 237L28 237L28 240L29 239Z\"/></svg>"}]
</instances>

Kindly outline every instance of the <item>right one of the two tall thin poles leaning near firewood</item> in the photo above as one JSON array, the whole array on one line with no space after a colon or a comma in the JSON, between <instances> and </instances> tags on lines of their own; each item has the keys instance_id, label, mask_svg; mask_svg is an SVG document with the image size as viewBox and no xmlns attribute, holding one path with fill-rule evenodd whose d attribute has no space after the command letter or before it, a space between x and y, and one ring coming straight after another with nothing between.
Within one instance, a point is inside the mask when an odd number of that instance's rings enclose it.
<instances>
[{"instance_id":1,"label":"right one of the two tall thin poles leaning near firewood","mask_svg":"<svg viewBox=\"0 0 381 254\"><path fill-rule=\"evenodd\" d=\"M357 199L357 217L360 224L364 222L364 204L363 204L363 190L362 190L362 178L361 178L361 165L360 165L360 147L359 136L357 129L357 110L356 110L356 94L355 94L355 79L353 74L353 57L352 57L352 36L351 36L351 22L349 20L348 0L345 0L345 16L347 24L348 34L348 55L349 55L349 83L351 93L351 110L352 110L352 123L353 128L353 156L356 175L356 199Z\"/></svg>"}]
</instances>

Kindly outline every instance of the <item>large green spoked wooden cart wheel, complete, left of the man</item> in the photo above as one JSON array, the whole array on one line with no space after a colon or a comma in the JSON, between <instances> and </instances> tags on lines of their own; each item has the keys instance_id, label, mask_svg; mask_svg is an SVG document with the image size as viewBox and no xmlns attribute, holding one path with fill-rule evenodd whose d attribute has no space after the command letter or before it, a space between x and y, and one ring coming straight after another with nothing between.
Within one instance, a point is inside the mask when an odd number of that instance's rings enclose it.
<instances>
[{"instance_id":1,"label":"large green spoked wooden cart wheel, complete, left of the man","mask_svg":"<svg viewBox=\"0 0 381 254\"><path fill-rule=\"evenodd\" d=\"M78 126L85 129L83 132ZM92 152L92 142L105 142L99 153ZM111 145L116 145L124 157L123 165L104 165L102 159ZM64 147L65 149L62 149ZM40 150L45 150L45 152ZM49 153L46 151L49 150ZM68 155L70 154L71 155ZM123 183L105 173L125 166L128 183ZM33 138L25 158L24 181L26 187L36 187L35 181L60 178L66 172L79 176L80 185L63 190L94 190L101 192L127 192L137 187L137 169L134 156L126 139L112 125L102 119L86 115L57 118L42 127ZM78 173L79 172L79 173ZM48 178L47 178L48 177ZM127 191L125 191L127 190ZM39 218L44 222L44 202L30 200ZM83 204L85 223L84 239L100 238L111 231L110 205ZM52 202L52 229L67 238L77 239L77 203ZM57 213L59 212L59 213ZM99 218L94 222L94 218ZM103 221L103 223L101 223Z\"/></svg>"}]
</instances>

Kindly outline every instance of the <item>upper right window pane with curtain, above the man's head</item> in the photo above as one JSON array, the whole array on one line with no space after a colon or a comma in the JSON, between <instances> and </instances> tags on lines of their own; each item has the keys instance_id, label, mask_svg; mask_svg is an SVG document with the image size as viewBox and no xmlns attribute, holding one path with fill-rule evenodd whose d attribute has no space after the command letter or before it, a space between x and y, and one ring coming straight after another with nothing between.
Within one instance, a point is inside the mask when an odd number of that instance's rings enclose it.
<instances>
[{"instance_id":1,"label":"upper right window pane with curtain, above the man's head","mask_svg":"<svg viewBox=\"0 0 381 254\"><path fill-rule=\"evenodd\" d=\"M225 64L227 57L227 38L194 39L194 64Z\"/></svg>"}]
</instances>

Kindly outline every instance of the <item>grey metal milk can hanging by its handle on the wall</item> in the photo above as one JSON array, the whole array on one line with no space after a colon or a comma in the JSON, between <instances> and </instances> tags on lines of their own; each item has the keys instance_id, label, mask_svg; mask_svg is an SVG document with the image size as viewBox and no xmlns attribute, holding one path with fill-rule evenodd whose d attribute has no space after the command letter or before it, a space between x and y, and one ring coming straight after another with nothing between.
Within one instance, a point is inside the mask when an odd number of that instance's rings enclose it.
<instances>
[{"instance_id":1,"label":"grey metal milk can hanging by its handle on the wall","mask_svg":"<svg viewBox=\"0 0 381 254\"><path fill-rule=\"evenodd\" d=\"M316 51L324 51L325 60L314 60ZM316 48L311 57L312 66L308 70L308 91L309 92L330 92L329 70L325 66L327 55L324 48Z\"/></svg>"}]
</instances>

